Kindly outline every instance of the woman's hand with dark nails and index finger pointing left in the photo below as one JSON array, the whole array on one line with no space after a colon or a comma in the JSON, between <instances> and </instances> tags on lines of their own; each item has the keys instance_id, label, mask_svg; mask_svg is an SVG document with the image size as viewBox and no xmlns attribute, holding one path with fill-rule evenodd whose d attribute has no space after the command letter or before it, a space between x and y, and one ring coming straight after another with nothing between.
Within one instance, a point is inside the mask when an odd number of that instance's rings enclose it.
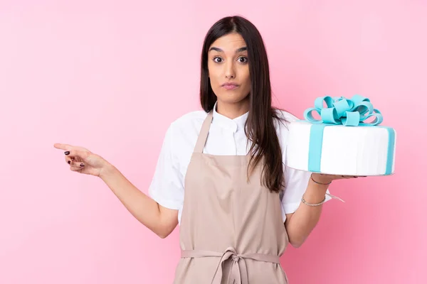
<instances>
[{"instance_id":1,"label":"woman's hand with dark nails and index finger pointing left","mask_svg":"<svg viewBox=\"0 0 427 284\"><path fill-rule=\"evenodd\" d=\"M70 170L73 172L99 177L102 169L108 164L100 155L83 147L61 143L55 143L53 147L65 151L65 162L70 165Z\"/></svg>"}]
</instances>

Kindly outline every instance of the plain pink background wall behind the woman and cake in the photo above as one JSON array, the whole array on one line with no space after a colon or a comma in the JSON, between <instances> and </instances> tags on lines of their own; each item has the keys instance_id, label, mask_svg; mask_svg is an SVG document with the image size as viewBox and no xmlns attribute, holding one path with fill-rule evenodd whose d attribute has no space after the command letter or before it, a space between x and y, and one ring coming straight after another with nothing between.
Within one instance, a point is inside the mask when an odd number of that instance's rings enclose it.
<instances>
[{"instance_id":1,"label":"plain pink background wall behind the woman and cake","mask_svg":"<svg viewBox=\"0 0 427 284\"><path fill-rule=\"evenodd\" d=\"M289 247L290 283L427 283L421 0L0 1L0 283L172 283L179 230L154 236L53 143L147 192L167 126L199 109L204 35L234 13L265 39L275 104L362 94L398 133L395 175L330 187L347 202Z\"/></svg>"}]
</instances>

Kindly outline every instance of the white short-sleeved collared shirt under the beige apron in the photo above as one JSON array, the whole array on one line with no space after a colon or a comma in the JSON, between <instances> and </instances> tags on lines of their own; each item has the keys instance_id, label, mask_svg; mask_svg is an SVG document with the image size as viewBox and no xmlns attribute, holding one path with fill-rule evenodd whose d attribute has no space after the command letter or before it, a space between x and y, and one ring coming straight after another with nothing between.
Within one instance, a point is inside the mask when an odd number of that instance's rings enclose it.
<instances>
[{"instance_id":1,"label":"white short-sleeved collared shirt under the beige apron","mask_svg":"<svg viewBox=\"0 0 427 284\"><path fill-rule=\"evenodd\" d=\"M292 114L282 111L286 121L295 121ZM184 204L184 178L190 163L191 154L201 130L201 125L206 119L205 111L192 111L179 117L170 124L164 137L162 150L157 160L157 166L149 186L149 196L157 203L169 209L177 209L178 222L181 223L181 212ZM247 155L250 145L246 147L248 138L244 132L244 125L248 113L236 119L216 112L209 129L204 153L211 155ZM307 189L310 172L295 170L285 166L286 141L288 141L287 123L275 122L276 132L282 149L282 157L285 170L285 192L281 198L283 222L286 215L295 212L300 206L302 195ZM326 200L330 200L326 196Z\"/></svg>"}]
</instances>

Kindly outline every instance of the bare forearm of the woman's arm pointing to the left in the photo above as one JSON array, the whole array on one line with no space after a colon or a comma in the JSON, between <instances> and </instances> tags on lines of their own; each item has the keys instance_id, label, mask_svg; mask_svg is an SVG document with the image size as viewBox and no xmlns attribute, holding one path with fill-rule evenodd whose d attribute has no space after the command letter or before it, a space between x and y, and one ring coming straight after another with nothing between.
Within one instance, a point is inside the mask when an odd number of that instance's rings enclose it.
<instances>
[{"instance_id":1,"label":"bare forearm of the woman's arm pointing to the left","mask_svg":"<svg viewBox=\"0 0 427 284\"><path fill-rule=\"evenodd\" d=\"M169 234L167 228L162 226L159 204L132 185L117 168L108 164L100 173L100 178L139 222L158 236Z\"/></svg>"}]
</instances>

